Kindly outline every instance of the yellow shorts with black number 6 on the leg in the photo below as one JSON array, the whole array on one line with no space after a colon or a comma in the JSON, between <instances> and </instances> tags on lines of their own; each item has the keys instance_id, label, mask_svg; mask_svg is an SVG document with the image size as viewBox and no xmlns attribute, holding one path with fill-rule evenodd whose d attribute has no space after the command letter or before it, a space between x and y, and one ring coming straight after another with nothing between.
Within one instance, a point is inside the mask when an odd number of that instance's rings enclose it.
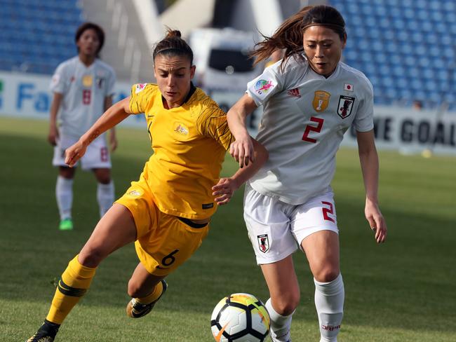
<instances>
[{"instance_id":1,"label":"yellow shorts with black number 6 on the leg","mask_svg":"<svg viewBox=\"0 0 456 342\"><path fill-rule=\"evenodd\" d=\"M166 276L173 272L194 254L209 232L209 224L194 228L179 217L161 212L142 177L139 182L132 182L116 203L133 214L136 253L153 275Z\"/></svg>"}]
</instances>

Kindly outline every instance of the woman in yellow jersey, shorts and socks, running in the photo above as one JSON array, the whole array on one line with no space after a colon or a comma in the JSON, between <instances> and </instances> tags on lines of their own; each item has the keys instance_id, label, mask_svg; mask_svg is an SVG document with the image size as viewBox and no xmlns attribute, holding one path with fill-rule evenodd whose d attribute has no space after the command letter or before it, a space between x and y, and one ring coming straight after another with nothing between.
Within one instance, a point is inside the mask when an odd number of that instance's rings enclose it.
<instances>
[{"instance_id":1,"label":"woman in yellow jersey, shorts and socks, running","mask_svg":"<svg viewBox=\"0 0 456 342\"><path fill-rule=\"evenodd\" d=\"M140 263L128 282L133 299L127 315L142 317L166 291L166 275L185 262L206 237L217 205L267 160L255 146L254 163L229 178L220 177L222 161L234 138L225 113L192 84L193 53L179 31L168 30L153 53L157 84L137 84L66 151L72 167L88 144L130 114L144 113L154 154L138 182L100 219L81 252L69 262L51 309L28 342L52 342L63 320L87 291L100 262L119 247L135 242ZM246 160L250 156L246 156Z\"/></svg>"}]
</instances>

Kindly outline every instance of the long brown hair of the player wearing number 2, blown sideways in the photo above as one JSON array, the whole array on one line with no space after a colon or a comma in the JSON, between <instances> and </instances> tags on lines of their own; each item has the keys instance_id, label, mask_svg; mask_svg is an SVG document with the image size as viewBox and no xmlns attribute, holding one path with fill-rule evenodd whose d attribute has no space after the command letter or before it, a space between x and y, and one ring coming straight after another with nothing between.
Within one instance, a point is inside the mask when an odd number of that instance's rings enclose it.
<instances>
[{"instance_id":1,"label":"long brown hair of the player wearing number 2, blown sideways","mask_svg":"<svg viewBox=\"0 0 456 342\"><path fill-rule=\"evenodd\" d=\"M285 20L272 36L263 36L264 41L255 44L255 51L252 53L252 56L256 57L255 64L267 60L275 50L284 50L281 67L292 55L303 58L302 34L307 27L314 25L332 29L342 41L347 38L344 18L334 7L306 6Z\"/></svg>"}]
</instances>

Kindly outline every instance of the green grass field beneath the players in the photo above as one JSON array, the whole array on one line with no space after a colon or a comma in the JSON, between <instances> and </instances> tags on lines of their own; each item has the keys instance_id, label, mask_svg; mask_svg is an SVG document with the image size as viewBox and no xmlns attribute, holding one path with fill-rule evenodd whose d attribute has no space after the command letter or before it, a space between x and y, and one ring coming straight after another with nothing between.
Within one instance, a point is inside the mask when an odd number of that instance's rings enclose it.
<instances>
[{"instance_id":1,"label":"green grass field beneath the players","mask_svg":"<svg viewBox=\"0 0 456 342\"><path fill-rule=\"evenodd\" d=\"M78 172L74 231L60 232L47 123L0 118L0 341L25 341L48 312L55 280L98 220L95 179ZM149 157L146 130L119 129L113 156L116 195L138 178ZM380 153L380 204L389 226L376 245L363 217L356 151L341 150L333 182L340 228L345 313L339 341L456 341L456 158ZM236 165L227 156L224 175ZM223 296L268 298L242 218L242 191L221 207L212 231L187 264L168 277L168 292L139 320L126 317L126 284L138 263L133 245L98 268L58 341L213 341L210 313ZM295 342L318 341L314 284L295 254L301 304Z\"/></svg>"}]
</instances>

